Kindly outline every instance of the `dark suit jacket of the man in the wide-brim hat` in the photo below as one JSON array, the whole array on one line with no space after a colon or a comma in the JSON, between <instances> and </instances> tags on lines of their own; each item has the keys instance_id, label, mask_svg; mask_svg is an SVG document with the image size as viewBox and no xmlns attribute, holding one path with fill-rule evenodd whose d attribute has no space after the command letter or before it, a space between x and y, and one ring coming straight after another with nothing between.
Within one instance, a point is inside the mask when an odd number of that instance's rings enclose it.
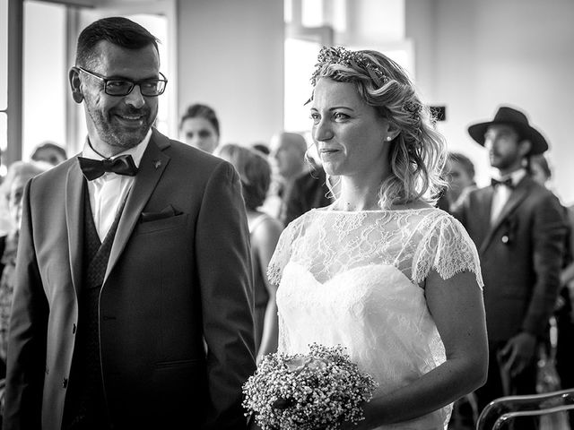
<instances>
[{"instance_id":1,"label":"dark suit jacket of the man in the wide-brim hat","mask_svg":"<svg viewBox=\"0 0 574 430\"><path fill-rule=\"evenodd\" d=\"M526 176L491 226L492 193L491 186L474 190L453 213L480 255L489 340L519 331L543 337L560 285L567 226L561 204Z\"/></svg>"}]
</instances>

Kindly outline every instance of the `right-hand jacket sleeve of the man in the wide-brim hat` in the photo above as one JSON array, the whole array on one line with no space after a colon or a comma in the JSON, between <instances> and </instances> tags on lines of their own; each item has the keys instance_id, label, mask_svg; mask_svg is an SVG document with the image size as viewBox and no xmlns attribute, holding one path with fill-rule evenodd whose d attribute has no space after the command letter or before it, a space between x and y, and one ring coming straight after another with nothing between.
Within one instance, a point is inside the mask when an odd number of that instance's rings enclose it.
<instances>
[{"instance_id":1,"label":"right-hand jacket sleeve of the man in the wide-brim hat","mask_svg":"<svg viewBox=\"0 0 574 430\"><path fill-rule=\"evenodd\" d=\"M522 330L543 336L560 288L567 222L561 203L551 193L535 205L532 226L535 287Z\"/></svg>"}]
</instances>

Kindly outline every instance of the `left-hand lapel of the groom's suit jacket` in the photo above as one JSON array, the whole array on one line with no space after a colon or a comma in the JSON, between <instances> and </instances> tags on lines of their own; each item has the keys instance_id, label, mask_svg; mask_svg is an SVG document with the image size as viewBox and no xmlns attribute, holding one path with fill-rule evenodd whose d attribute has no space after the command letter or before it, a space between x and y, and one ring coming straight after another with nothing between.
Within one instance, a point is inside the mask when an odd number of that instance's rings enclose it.
<instances>
[{"instance_id":1,"label":"left-hand lapel of the groom's suit jacket","mask_svg":"<svg viewBox=\"0 0 574 430\"><path fill-rule=\"evenodd\" d=\"M68 231L68 249L72 283L76 293L82 282L83 250L83 174L80 165L73 162L65 178L65 220Z\"/></svg>"}]
</instances>

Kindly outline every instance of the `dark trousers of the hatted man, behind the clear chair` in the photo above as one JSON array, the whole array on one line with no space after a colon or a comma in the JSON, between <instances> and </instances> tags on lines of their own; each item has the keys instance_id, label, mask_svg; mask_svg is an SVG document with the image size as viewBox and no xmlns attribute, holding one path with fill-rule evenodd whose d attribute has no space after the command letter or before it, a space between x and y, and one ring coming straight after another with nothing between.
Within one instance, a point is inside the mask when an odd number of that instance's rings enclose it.
<instances>
[{"instance_id":1,"label":"dark trousers of the hatted man, behind the clear chair","mask_svg":"<svg viewBox=\"0 0 574 430\"><path fill-rule=\"evenodd\" d=\"M498 355L500 349L504 348L505 345L505 341L489 345L488 379L481 388L474 391L479 413L492 400L498 399L499 397L536 393L536 360L533 360L533 362L516 377L511 378L509 376L509 392L504 391L501 376L503 370L500 368ZM496 417L494 417L492 422L485 428L491 428L491 426L494 425L494 421L496 421ZM538 428L538 419L536 418L520 418L514 421L515 423L512 428L515 429L533 430Z\"/></svg>"}]
</instances>

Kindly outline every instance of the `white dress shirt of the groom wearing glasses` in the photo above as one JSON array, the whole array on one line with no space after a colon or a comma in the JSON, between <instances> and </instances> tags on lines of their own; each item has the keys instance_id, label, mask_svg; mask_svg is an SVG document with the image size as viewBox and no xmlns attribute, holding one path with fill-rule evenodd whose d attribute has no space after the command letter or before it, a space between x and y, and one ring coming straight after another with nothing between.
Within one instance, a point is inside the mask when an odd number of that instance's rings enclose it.
<instances>
[{"instance_id":1,"label":"white dress shirt of the groom wearing glasses","mask_svg":"<svg viewBox=\"0 0 574 430\"><path fill-rule=\"evenodd\" d=\"M116 154L111 159L119 155L129 154L134 159L135 166L139 168L140 161L143 157L143 151L147 148L152 129L146 134L142 142L139 142L134 148L125 150ZM104 159L91 146L86 139L83 145L82 157L86 159ZM116 219L117 210L127 197L127 193L134 184L135 176L117 175L116 173L106 172L102 176L88 181L88 193L90 193L90 207L93 215L93 222L98 230L100 241L103 242L108 234L108 230Z\"/></svg>"}]
</instances>

